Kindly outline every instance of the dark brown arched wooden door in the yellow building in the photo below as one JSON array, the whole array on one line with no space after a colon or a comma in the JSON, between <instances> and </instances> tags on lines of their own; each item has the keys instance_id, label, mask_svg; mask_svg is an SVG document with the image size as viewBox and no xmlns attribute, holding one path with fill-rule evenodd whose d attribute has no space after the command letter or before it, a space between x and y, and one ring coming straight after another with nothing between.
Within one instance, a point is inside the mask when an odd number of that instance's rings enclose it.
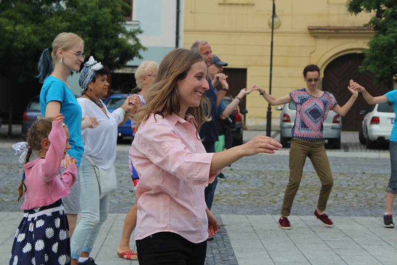
<instances>
[{"instance_id":1,"label":"dark brown arched wooden door in the yellow building","mask_svg":"<svg viewBox=\"0 0 397 265\"><path fill-rule=\"evenodd\" d=\"M342 55L333 60L324 70L323 90L330 91L340 106L343 106L351 97L347 89L350 79L363 85L373 96L380 96L389 91L387 86L374 84L374 75L371 72L358 71L363 57L362 54ZM360 115L360 111L368 111L370 108L371 106L360 94L346 116L342 117L342 131L358 131L364 118Z\"/></svg>"}]
</instances>

